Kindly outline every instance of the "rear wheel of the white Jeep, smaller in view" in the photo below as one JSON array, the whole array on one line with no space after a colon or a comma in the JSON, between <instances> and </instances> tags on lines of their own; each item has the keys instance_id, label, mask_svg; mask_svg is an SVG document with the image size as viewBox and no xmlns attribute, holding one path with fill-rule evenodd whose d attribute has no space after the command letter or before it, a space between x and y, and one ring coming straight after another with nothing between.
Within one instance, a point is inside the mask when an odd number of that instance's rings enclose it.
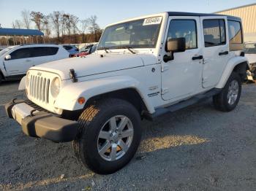
<instances>
[{"instance_id":1,"label":"rear wheel of the white Jeep, smaller in view","mask_svg":"<svg viewBox=\"0 0 256 191\"><path fill-rule=\"evenodd\" d=\"M230 112L236 108L241 95L241 77L233 72L227 80L222 91L214 95L213 101L216 109L222 112Z\"/></svg>"}]
</instances>

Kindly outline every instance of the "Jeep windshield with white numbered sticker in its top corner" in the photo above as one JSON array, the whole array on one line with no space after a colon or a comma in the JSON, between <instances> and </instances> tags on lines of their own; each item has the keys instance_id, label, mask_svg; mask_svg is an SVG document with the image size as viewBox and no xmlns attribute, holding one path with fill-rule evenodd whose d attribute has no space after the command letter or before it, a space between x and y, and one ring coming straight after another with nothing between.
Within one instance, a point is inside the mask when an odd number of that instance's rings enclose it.
<instances>
[{"instance_id":1,"label":"Jeep windshield with white numbered sticker in its top corner","mask_svg":"<svg viewBox=\"0 0 256 191\"><path fill-rule=\"evenodd\" d=\"M156 47L161 23L162 17L151 17L109 26L97 50Z\"/></svg>"}]
</instances>

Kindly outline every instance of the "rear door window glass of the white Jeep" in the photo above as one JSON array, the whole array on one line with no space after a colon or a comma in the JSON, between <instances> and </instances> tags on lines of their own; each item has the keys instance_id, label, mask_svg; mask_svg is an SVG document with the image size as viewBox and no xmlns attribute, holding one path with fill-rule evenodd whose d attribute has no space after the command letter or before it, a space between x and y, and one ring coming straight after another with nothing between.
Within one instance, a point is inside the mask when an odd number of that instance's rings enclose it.
<instances>
[{"instance_id":1,"label":"rear door window glass of the white Jeep","mask_svg":"<svg viewBox=\"0 0 256 191\"><path fill-rule=\"evenodd\" d=\"M205 47L214 47L226 44L225 20L203 20L203 35Z\"/></svg>"}]
</instances>

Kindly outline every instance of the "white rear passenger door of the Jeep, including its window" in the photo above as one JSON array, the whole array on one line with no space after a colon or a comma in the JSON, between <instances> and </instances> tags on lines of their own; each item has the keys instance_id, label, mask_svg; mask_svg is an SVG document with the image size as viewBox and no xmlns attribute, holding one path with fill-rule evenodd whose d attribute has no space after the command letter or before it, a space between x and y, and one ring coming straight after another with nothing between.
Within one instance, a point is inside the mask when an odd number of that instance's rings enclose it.
<instances>
[{"instance_id":1,"label":"white rear passenger door of the Jeep, including its window","mask_svg":"<svg viewBox=\"0 0 256 191\"><path fill-rule=\"evenodd\" d=\"M203 87L214 87L229 60L225 17L200 17L203 31Z\"/></svg>"}]
</instances>

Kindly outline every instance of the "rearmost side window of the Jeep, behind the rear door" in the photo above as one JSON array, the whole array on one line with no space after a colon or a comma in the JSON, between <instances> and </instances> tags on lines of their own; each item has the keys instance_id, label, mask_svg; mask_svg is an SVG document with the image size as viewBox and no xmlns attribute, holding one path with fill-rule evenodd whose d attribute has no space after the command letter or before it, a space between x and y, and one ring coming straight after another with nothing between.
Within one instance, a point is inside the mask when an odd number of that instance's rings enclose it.
<instances>
[{"instance_id":1,"label":"rearmost side window of the Jeep, behind the rear door","mask_svg":"<svg viewBox=\"0 0 256 191\"><path fill-rule=\"evenodd\" d=\"M241 23L238 21L228 20L228 34L230 36L230 44L242 44Z\"/></svg>"}]
</instances>

